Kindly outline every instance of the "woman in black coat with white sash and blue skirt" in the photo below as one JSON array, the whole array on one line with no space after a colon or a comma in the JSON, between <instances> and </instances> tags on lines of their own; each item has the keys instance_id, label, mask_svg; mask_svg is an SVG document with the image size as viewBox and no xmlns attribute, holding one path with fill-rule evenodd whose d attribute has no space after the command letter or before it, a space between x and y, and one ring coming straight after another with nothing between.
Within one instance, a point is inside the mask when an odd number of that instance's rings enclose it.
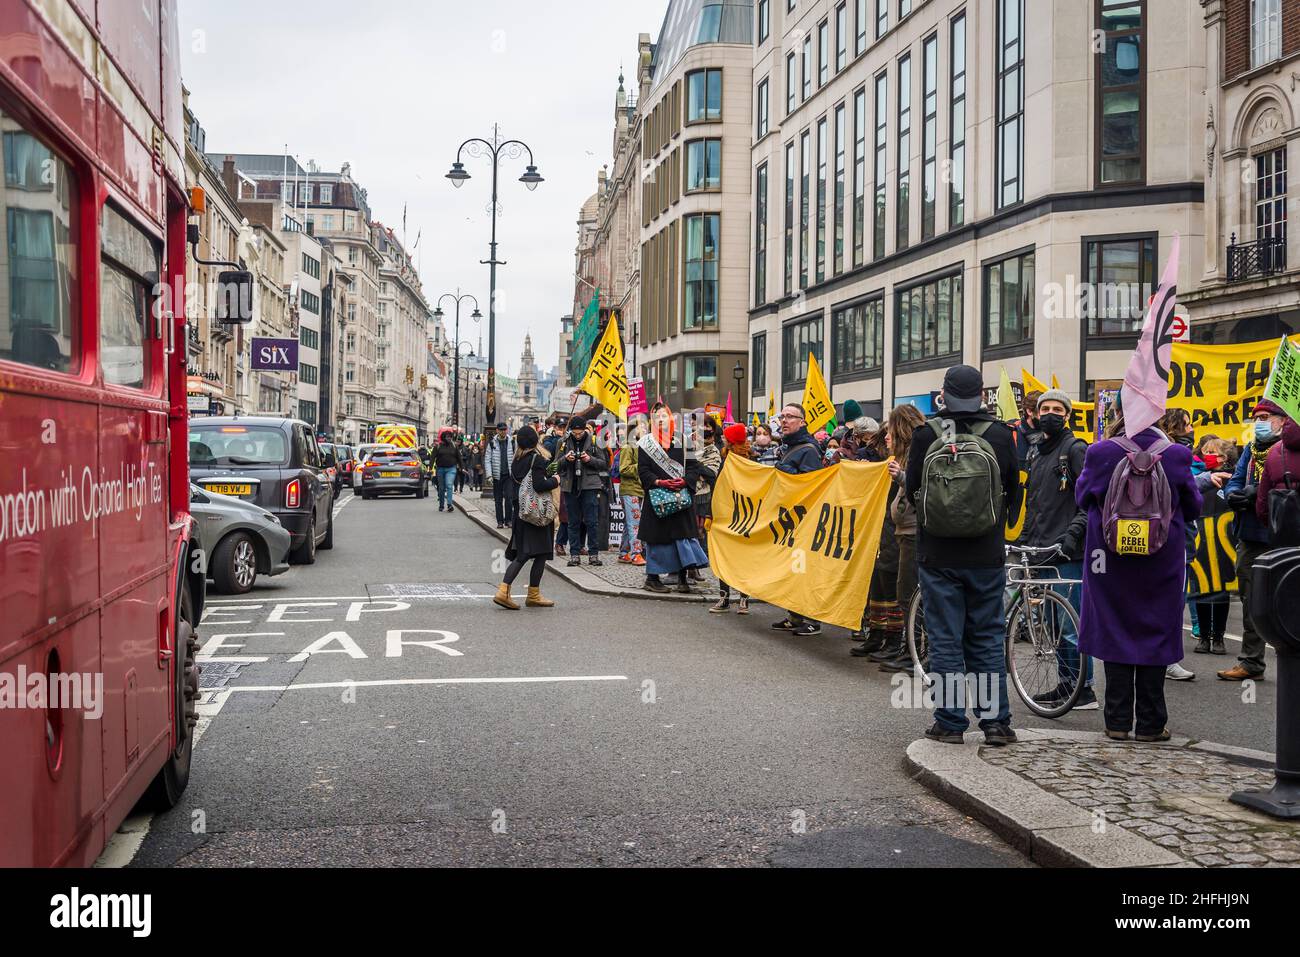
<instances>
[{"instance_id":1,"label":"woman in black coat with white sash and blue skirt","mask_svg":"<svg viewBox=\"0 0 1300 957\"><path fill-rule=\"evenodd\" d=\"M655 512L653 489L673 490L675 476L662 468L654 458L647 454L650 442L656 442L667 456L681 465L682 486L688 493L696 488L696 482L703 476L698 459L686 459L681 443L672 441L672 415L667 408L654 413L654 424L650 432L642 437L637 454L637 475L641 486L646 493L646 506L641 510L641 528L637 529L637 538L645 544L646 557L646 584L647 592L667 592L668 586L659 579L660 575L677 576L677 590L682 594L692 594L690 583L686 573L692 568L705 568L708 566L708 557L699 546L698 520L696 518L694 503L673 515L660 516ZM668 447L664 447L668 446Z\"/></svg>"}]
</instances>

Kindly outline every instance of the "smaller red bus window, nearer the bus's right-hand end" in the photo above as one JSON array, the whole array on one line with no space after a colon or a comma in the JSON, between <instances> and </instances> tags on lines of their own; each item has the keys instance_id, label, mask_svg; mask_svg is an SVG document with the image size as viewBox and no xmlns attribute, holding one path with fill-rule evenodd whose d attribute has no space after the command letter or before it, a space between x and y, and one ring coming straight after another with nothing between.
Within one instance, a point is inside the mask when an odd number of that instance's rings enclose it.
<instances>
[{"instance_id":1,"label":"smaller red bus window, nearer the bus's right-hand end","mask_svg":"<svg viewBox=\"0 0 1300 957\"><path fill-rule=\"evenodd\" d=\"M100 252L99 347L104 381L143 389L152 373L150 330L159 244L105 205Z\"/></svg>"}]
</instances>

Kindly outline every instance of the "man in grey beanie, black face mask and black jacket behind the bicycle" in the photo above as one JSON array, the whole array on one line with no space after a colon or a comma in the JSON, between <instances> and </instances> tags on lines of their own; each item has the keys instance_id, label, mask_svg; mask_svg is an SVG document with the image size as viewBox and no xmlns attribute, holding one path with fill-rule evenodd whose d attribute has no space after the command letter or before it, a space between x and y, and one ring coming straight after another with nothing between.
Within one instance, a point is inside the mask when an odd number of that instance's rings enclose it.
<instances>
[{"instance_id":1,"label":"man in grey beanie, black face mask and black jacket behind the bicycle","mask_svg":"<svg viewBox=\"0 0 1300 957\"><path fill-rule=\"evenodd\" d=\"M1024 529L1019 545L1034 549L1061 546L1060 555L1049 555L1062 579L1083 580L1083 540L1088 532L1088 512L1074 499L1074 486L1083 472L1088 443L1070 430L1074 402L1060 389L1049 389L1039 398L1039 441L1030 447L1027 460L1028 480L1024 485ZM1079 612L1083 585L1061 585L1057 590ZM1065 618L1065 616L1062 616ZM1054 707L1061 698L1069 698L1074 681L1079 680L1079 636L1067 618L1062 622L1058 672L1062 683L1053 690L1035 697L1035 701ZM1092 659L1084 666L1084 688L1075 701L1075 711L1095 711L1100 707L1092 690Z\"/></svg>"}]
</instances>

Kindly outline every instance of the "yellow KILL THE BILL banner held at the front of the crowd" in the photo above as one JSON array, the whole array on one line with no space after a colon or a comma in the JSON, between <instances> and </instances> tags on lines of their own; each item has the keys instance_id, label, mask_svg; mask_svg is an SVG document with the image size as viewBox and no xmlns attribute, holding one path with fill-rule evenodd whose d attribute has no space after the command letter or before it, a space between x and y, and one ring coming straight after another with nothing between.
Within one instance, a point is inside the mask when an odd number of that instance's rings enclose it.
<instances>
[{"instance_id":1,"label":"yellow KILL THE BILL banner held at the front of the crowd","mask_svg":"<svg viewBox=\"0 0 1300 957\"><path fill-rule=\"evenodd\" d=\"M883 462L788 475L729 455L714 486L710 563L748 596L858 628L888 501Z\"/></svg>"}]
</instances>

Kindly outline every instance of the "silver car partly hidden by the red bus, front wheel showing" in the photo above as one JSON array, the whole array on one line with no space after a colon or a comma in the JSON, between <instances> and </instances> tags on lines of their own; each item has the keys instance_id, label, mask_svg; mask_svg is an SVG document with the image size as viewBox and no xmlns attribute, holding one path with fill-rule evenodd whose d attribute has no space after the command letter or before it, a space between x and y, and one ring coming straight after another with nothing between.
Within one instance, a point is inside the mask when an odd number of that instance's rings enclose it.
<instances>
[{"instance_id":1,"label":"silver car partly hidden by the red bus, front wheel showing","mask_svg":"<svg viewBox=\"0 0 1300 957\"><path fill-rule=\"evenodd\" d=\"M243 594L257 575L289 570L289 529L265 508L191 482L190 512L200 528L214 592Z\"/></svg>"}]
</instances>

